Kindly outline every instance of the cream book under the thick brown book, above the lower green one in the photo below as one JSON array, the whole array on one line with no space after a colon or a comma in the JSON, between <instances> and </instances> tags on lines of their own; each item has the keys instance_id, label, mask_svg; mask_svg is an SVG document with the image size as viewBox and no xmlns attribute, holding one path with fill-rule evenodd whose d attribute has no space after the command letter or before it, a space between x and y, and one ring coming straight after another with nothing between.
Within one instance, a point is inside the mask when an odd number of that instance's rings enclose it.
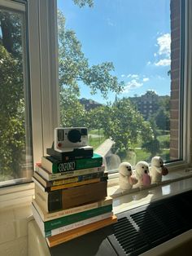
<instances>
[{"instance_id":1,"label":"cream book under the thick brown book, above the lower green one","mask_svg":"<svg viewBox=\"0 0 192 256\"><path fill-rule=\"evenodd\" d=\"M33 198L33 205L37 209L38 214L41 216L42 221L45 222L45 221L48 221L51 219L68 216L70 214L81 213L85 210L96 209L96 208L102 207L104 205L112 205L112 198L111 198L111 196L107 196L106 198L104 198L101 201L95 201L93 203L79 205L79 206L72 207L67 210L59 210L59 211L55 211L53 213L47 213L45 210L41 209L41 207L37 204L37 201L34 198Z\"/></svg>"}]
</instances>

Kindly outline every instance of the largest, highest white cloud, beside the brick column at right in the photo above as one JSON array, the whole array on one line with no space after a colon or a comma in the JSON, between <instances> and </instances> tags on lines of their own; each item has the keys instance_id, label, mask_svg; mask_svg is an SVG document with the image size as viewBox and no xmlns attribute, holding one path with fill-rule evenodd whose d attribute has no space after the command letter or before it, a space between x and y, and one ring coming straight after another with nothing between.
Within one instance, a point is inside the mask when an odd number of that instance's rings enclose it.
<instances>
[{"instance_id":1,"label":"largest, highest white cloud, beside the brick column at right","mask_svg":"<svg viewBox=\"0 0 192 256\"><path fill-rule=\"evenodd\" d=\"M171 53L171 36L170 33L164 33L157 38L157 44L159 46L158 54L169 56Z\"/></svg>"}]
</instances>

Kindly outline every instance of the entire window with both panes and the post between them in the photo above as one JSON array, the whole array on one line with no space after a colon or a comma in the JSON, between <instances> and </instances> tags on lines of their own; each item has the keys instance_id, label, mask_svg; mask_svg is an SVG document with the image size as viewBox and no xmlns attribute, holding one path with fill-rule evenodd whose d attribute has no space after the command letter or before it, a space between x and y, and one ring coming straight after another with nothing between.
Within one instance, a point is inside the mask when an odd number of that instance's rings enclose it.
<instances>
[{"instance_id":1,"label":"entire window with both panes and the post between them","mask_svg":"<svg viewBox=\"0 0 192 256\"><path fill-rule=\"evenodd\" d=\"M188 0L2 0L0 186L30 180L59 123L87 126L110 172L153 154L190 164L191 10Z\"/></svg>"}]
</instances>

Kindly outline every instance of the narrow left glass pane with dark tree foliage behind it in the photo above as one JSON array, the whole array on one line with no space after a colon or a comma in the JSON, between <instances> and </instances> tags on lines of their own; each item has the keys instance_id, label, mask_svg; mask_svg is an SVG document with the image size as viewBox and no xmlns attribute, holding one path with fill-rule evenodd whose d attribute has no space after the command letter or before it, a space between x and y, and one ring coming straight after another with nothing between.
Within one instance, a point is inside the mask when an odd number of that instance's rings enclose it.
<instances>
[{"instance_id":1,"label":"narrow left glass pane with dark tree foliage behind it","mask_svg":"<svg viewBox=\"0 0 192 256\"><path fill-rule=\"evenodd\" d=\"M33 170L24 17L0 8L0 186Z\"/></svg>"}]
</instances>

